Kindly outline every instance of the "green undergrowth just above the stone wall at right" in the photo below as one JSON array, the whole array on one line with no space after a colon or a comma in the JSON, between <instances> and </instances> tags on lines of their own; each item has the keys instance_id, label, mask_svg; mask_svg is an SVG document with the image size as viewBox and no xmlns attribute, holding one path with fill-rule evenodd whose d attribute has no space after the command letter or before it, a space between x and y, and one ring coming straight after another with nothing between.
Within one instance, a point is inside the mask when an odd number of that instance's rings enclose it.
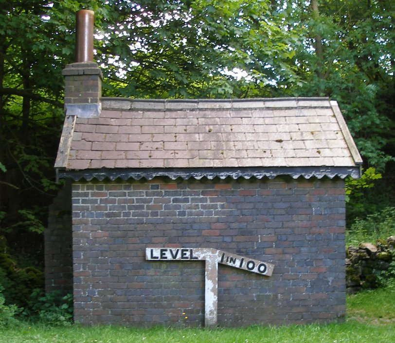
<instances>
[{"instance_id":1,"label":"green undergrowth just above the stone wall at right","mask_svg":"<svg viewBox=\"0 0 395 343\"><path fill-rule=\"evenodd\" d=\"M382 211L368 215L365 219L357 219L346 230L346 245L358 245L359 242L376 243L395 234L395 207L387 207Z\"/></svg>"}]
</instances>

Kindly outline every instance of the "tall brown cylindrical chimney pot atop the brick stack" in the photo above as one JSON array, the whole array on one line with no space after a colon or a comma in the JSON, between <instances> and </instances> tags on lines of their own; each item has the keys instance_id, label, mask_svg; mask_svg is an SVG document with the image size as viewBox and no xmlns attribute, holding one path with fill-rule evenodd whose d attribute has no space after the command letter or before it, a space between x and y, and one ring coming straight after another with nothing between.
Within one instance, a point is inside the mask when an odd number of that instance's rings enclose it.
<instances>
[{"instance_id":1,"label":"tall brown cylindrical chimney pot atop the brick stack","mask_svg":"<svg viewBox=\"0 0 395 343\"><path fill-rule=\"evenodd\" d=\"M90 10L76 13L75 62L93 62L93 17Z\"/></svg>"}]
</instances>

